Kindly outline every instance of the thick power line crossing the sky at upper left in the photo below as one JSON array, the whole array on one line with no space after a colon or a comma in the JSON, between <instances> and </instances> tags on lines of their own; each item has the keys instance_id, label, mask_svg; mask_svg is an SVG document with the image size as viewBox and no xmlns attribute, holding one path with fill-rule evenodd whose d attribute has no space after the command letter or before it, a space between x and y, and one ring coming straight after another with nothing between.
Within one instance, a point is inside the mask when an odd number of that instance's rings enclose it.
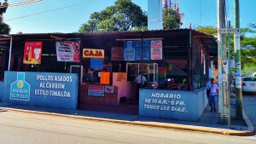
<instances>
[{"instance_id":1,"label":"thick power line crossing the sky at upper left","mask_svg":"<svg viewBox=\"0 0 256 144\"><path fill-rule=\"evenodd\" d=\"M92 3L92 2L95 2L95 1L97 1L97 0L91 0L91 1L88 1L88 2L84 2L84 3ZM45 11L42 11L42 12L39 12L39 13L35 13L35 14L27 14L27 15L16 17L16 18L9 19L9 20L17 20L17 19L26 18L26 17L33 16L33 15L49 13L49 12L52 12L52 11L55 11L55 10L67 9L69 7L74 7L74 6L77 6L77 5L84 4L84 3L76 3L76 4L68 5L68 6L65 6L65 7L57 8L57 9L45 10ZM9 20L4 20L4 21L9 21Z\"/></svg>"}]
</instances>

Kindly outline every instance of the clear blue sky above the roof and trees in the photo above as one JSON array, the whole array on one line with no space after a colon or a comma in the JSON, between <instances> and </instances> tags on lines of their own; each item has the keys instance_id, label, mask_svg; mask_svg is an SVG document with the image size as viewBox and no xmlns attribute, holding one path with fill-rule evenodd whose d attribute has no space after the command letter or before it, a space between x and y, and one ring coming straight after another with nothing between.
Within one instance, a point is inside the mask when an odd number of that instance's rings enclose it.
<instances>
[{"instance_id":1,"label":"clear blue sky above the roof and trees","mask_svg":"<svg viewBox=\"0 0 256 144\"><path fill-rule=\"evenodd\" d=\"M3 0L0 0L3 2ZM9 0L9 4L26 0ZM151 1L151 0L149 0ZM174 1L174 0L172 0ZM78 32L90 14L113 5L115 0L43 0L17 7L9 7L3 14L4 22L11 26L11 33ZM132 0L143 11L148 11L148 0ZM226 0L227 17L234 22L234 0ZM183 28L189 26L217 26L217 0L179 0L183 12ZM252 14L256 0L240 0L241 27L256 24ZM31 16L29 16L31 15Z\"/></svg>"}]
</instances>

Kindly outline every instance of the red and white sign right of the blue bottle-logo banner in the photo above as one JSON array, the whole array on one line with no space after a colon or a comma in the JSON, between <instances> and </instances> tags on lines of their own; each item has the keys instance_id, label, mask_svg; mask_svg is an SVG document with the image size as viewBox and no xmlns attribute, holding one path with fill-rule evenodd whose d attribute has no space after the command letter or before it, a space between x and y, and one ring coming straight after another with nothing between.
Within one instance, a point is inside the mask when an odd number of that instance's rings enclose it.
<instances>
[{"instance_id":1,"label":"red and white sign right of the blue bottle-logo banner","mask_svg":"<svg viewBox=\"0 0 256 144\"><path fill-rule=\"evenodd\" d=\"M161 40L152 40L150 45L151 51L151 60L162 60L162 41Z\"/></svg>"}]
</instances>

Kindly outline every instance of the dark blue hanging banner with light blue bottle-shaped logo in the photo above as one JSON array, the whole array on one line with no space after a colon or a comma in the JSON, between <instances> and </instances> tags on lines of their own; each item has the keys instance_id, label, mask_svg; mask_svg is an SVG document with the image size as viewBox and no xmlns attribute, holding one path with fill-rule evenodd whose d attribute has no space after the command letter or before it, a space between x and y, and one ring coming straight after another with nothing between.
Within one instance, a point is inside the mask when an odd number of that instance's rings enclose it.
<instances>
[{"instance_id":1,"label":"dark blue hanging banner with light blue bottle-shaped logo","mask_svg":"<svg viewBox=\"0 0 256 144\"><path fill-rule=\"evenodd\" d=\"M143 54L143 55L142 55ZM150 40L125 41L124 60L150 60Z\"/></svg>"}]
</instances>

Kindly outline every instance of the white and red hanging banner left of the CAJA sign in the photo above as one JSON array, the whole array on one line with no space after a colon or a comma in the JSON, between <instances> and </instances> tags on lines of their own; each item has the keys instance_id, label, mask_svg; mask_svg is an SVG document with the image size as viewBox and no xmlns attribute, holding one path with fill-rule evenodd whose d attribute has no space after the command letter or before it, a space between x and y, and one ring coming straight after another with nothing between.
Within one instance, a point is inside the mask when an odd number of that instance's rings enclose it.
<instances>
[{"instance_id":1,"label":"white and red hanging banner left of the CAJA sign","mask_svg":"<svg viewBox=\"0 0 256 144\"><path fill-rule=\"evenodd\" d=\"M80 41L56 42L56 55L58 61L80 61Z\"/></svg>"}]
</instances>

